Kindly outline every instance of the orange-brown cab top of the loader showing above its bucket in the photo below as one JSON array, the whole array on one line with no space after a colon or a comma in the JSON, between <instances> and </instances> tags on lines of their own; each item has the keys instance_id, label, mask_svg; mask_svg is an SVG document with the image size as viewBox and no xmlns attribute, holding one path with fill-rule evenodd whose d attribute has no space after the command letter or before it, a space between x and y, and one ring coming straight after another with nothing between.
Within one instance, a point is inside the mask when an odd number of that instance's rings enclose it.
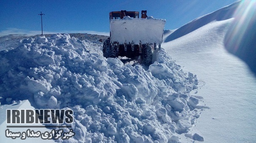
<instances>
[{"instance_id":1,"label":"orange-brown cab top of the loader showing above its bucket","mask_svg":"<svg viewBox=\"0 0 256 143\"><path fill-rule=\"evenodd\" d=\"M147 11L142 12L142 18L146 18ZM109 13L109 19L123 19L125 16L130 16L133 19L139 19L138 11L112 11Z\"/></svg>"}]
</instances>

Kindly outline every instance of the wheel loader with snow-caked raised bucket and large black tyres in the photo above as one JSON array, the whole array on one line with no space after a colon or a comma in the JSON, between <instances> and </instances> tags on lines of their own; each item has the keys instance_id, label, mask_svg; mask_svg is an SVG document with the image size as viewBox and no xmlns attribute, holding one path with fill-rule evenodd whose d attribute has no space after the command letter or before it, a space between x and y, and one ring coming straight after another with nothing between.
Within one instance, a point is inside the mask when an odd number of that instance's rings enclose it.
<instances>
[{"instance_id":1,"label":"wheel loader with snow-caked raised bucket and large black tyres","mask_svg":"<svg viewBox=\"0 0 256 143\"><path fill-rule=\"evenodd\" d=\"M154 19L142 11L112 11L109 13L110 37L103 43L106 58L140 56L144 65L152 64L153 51L161 49L165 19Z\"/></svg>"}]
</instances>

